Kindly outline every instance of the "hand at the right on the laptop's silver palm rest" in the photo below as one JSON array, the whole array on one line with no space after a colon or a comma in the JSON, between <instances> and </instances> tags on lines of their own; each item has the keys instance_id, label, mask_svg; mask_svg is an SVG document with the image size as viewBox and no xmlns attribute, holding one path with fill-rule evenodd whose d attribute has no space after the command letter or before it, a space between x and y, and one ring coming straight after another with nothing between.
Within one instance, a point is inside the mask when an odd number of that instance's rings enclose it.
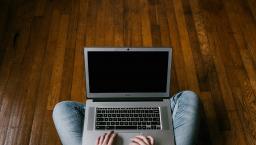
<instances>
[{"instance_id":1,"label":"hand at the right on the laptop's silver palm rest","mask_svg":"<svg viewBox=\"0 0 256 145\"><path fill-rule=\"evenodd\" d=\"M131 138L132 143L129 145L154 145L154 139L151 136L138 135Z\"/></svg>"}]
</instances>

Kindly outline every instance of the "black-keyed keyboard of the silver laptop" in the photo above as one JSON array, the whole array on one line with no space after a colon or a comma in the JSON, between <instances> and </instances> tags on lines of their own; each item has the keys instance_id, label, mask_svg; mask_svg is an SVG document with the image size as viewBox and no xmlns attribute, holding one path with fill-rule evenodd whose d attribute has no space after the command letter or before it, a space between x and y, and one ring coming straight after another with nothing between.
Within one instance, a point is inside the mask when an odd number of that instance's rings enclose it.
<instances>
[{"instance_id":1,"label":"black-keyed keyboard of the silver laptop","mask_svg":"<svg viewBox=\"0 0 256 145\"><path fill-rule=\"evenodd\" d=\"M96 108L97 130L159 130L159 107L150 108Z\"/></svg>"}]
</instances>

